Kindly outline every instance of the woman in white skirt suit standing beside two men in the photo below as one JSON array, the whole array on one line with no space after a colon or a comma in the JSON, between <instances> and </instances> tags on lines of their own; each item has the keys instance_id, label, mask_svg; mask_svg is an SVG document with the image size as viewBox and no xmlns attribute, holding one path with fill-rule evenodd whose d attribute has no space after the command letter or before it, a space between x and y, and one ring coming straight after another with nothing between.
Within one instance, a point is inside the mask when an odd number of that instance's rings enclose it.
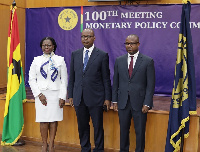
<instances>
[{"instance_id":1,"label":"woman in white skirt suit standing beside two men","mask_svg":"<svg viewBox=\"0 0 200 152\"><path fill-rule=\"evenodd\" d=\"M35 97L36 122L40 122L42 152L54 151L58 121L63 120L63 106L67 95L67 68L64 58L55 55L56 42L45 37L40 42L43 55L35 57L29 71L29 84Z\"/></svg>"}]
</instances>

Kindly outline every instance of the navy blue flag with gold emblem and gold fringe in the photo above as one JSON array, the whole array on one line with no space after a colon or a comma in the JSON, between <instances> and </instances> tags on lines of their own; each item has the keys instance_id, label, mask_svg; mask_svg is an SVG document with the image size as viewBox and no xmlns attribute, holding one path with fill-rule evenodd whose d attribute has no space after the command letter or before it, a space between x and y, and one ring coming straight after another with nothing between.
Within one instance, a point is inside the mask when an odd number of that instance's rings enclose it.
<instances>
[{"instance_id":1,"label":"navy blue flag with gold emblem and gold fringe","mask_svg":"<svg viewBox=\"0 0 200 152\"><path fill-rule=\"evenodd\" d=\"M191 4L188 1L182 7L165 152L180 150L182 133L184 133L184 138L189 136L189 115L196 114L196 83L189 24L190 11Z\"/></svg>"}]
</instances>

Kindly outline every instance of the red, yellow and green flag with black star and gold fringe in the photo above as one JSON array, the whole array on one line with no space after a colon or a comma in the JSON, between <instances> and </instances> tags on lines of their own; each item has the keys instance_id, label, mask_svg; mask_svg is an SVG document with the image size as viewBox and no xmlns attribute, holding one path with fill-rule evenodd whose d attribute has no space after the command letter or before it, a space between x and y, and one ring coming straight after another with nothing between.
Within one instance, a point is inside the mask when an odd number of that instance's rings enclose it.
<instances>
[{"instance_id":1,"label":"red, yellow and green flag with black star and gold fringe","mask_svg":"<svg viewBox=\"0 0 200 152\"><path fill-rule=\"evenodd\" d=\"M7 45L8 81L1 145L13 145L24 128L23 102L26 92L20 54L16 6L11 6Z\"/></svg>"}]
</instances>

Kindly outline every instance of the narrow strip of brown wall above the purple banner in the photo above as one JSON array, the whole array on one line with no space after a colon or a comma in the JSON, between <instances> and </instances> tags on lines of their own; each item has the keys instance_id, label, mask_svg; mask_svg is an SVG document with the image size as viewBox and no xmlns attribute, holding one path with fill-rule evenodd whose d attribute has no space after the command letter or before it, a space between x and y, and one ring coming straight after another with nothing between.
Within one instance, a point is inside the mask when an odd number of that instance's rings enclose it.
<instances>
[{"instance_id":1,"label":"narrow strip of brown wall above the purple banner","mask_svg":"<svg viewBox=\"0 0 200 152\"><path fill-rule=\"evenodd\" d=\"M136 0L139 4L182 4L182 0ZM133 4L137 5L134 2ZM200 3L199 0L192 0L191 3ZM119 5L119 2L88 2L88 0L27 0L27 8L37 7L64 7L64 6L94 6L94 5ZM122 5L125 2L121 3Z\"/></svg>"}]
</instances>

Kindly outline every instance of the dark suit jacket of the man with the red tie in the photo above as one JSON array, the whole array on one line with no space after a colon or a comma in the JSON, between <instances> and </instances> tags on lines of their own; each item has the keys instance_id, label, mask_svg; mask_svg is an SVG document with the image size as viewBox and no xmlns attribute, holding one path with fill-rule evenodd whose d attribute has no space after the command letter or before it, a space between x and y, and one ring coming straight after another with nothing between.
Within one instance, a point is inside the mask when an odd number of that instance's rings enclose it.
<instances>
[{"instance_id":1,"label":"dark suit jacket of the man with the red tie","mask_svg":"<svg viewBox=\"0 0 200 152\"><path fill-rule=\"evenodd\" d=\"M154 61L139 53L132 76L129 78L127 58L128 54L125 54L116 59L112 102L117 102L118 108L124 109L129 94L134 110L141 110L143 105L148 105L151 108L155 88Z\"/></svg>"}]
</instances>

